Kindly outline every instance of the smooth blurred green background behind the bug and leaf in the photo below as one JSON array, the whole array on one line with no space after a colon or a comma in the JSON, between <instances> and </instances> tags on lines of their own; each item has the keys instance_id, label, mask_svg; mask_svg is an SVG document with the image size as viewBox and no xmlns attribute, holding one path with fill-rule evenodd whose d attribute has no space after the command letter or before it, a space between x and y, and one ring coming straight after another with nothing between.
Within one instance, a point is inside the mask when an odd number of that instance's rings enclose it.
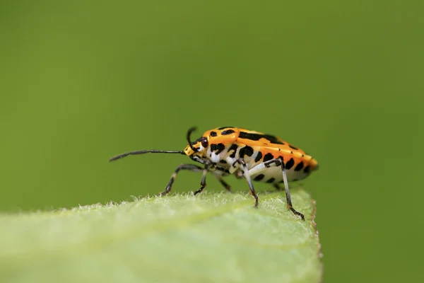
<instances>
[{"instance_id":1,"label":"smooth blurred green background behind the bug and leaf","mask_svg":"<svg viewBox=\"0 0 424 283\"><path fill-rule=\"evenodd\" d=\"M160 192L188 158L107 158L181 150L193 125L198 134L235 125L276 134L319 161L302 183L317 200L325 282L416 282L424 263L423 8L1 1L0 210ZM199 181L182 173L174 189ZM222 187L209 178L207 190Z\"/></svg>"}]
</instances>

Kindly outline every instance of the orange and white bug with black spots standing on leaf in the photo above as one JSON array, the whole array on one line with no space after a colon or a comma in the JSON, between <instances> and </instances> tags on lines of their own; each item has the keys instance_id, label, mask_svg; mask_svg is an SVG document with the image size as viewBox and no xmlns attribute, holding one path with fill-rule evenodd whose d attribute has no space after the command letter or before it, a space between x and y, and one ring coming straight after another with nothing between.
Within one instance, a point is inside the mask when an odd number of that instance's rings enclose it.
<instances>
[{"instance_id":1,"label":"orange and white bug with black spots standing on leaf","mask_svg":"<svg viewBox=\"0 0 424 283\"><path fill-rule=\"evenodd\" d=\"M177 173L182 170L202 173L201 187L194 195L202 192L206 187L206 174L211 172L219 182L230 192L230 185L225 183L225 175L235 175L236 178L245 178L249 185L250 194L254 197L254 206L258 206L258 196L254 191L252 180L265 182L281 190L279 183L284 183L287 207L293 214L305 220L305 216L293 208L288 190L288 182L301 180L318 169L317 161L305 154L305 151L296 148L282 139L237 127L219 127L202 134L195 141L190 140L196 127L187 131L188 145L184 151L141 150L119 154L110 158L110 161L134 154L185 154L194 164L179 165L172 174L165 190L160 196L170 192Z\"/></svg>"}]
</instances>

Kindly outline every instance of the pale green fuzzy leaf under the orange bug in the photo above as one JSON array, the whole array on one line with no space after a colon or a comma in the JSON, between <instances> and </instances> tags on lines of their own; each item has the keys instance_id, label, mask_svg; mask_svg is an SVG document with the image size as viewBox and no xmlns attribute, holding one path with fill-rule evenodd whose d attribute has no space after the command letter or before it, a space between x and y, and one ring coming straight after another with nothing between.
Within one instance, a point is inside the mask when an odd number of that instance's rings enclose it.
<instances>
[{"instance_id":1,"label":"pale green fuzzy leaf under the orange bug","mask_svg":"<svg viewBox=\"0 0 424 283\"><path fill-rule=\"evenodd\" d=\"M314 201L284 193L145 197L0 216L0 282L319 282Z\"/></svg>"}]
</instances>

